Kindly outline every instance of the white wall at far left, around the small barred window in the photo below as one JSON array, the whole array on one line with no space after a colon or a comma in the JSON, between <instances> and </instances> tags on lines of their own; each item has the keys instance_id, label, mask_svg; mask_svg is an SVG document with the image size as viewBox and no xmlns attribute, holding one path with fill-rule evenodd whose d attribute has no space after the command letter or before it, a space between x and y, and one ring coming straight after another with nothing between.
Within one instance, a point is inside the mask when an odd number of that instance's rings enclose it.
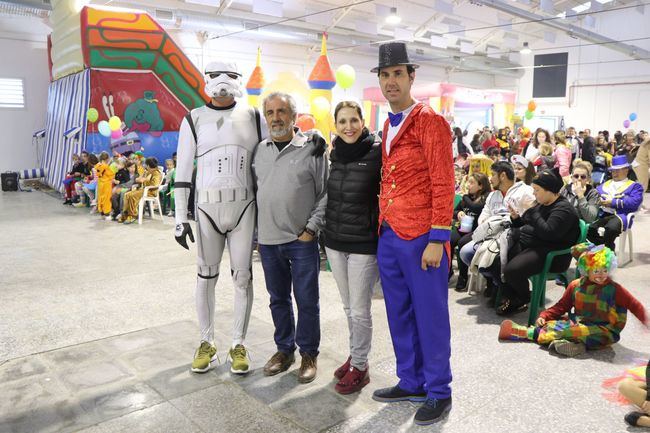
<instances>
[{"instance_id":1,"label":"white wall at far left, around the small barred window","mask_svg":"<svg viewBox=\"0 0 650 433\"><path fill-rule=\"evenodd\" d=\"M0 108L0 172L37 168L34 131L45 127L47 45L0 35L0 77L22 78L25 108Z\"/></svg>"}]
</instances>

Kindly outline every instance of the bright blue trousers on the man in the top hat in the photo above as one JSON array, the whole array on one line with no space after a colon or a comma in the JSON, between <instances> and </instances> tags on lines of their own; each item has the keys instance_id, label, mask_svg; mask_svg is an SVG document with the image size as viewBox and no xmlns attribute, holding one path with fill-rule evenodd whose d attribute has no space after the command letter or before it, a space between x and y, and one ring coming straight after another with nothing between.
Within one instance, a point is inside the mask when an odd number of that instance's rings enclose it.
<instances>
[{"instance_id":1,"label":"bright blue trousers on the man in the top hat","mask_svg":"<svg viewBox=\"0 0 650 433\"><path fill-rule=\"evenodd\" d=\"M449 259L443 253L439 268L423 271L422 253L428 242L428 234L407 241L382 227L377 262L398 385L405 391L442 399L451 396Z\"/></svg>"}]
</instances>

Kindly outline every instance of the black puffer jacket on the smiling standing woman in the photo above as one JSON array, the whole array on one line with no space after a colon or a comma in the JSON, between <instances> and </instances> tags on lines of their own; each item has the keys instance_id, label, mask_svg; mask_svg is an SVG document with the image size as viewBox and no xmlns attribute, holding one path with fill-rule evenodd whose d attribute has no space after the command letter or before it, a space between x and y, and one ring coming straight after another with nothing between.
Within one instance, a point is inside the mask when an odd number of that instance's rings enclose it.
<instances>
[{"instance_id":1,"label":"black puffer jacket on the smiling standing woman","mask_svg":"<svg viewBox=\"0 0 650 433\"><path fill-rule=\"evenodd\" d=\"M376 254L379 223L381 140L359 159L343 162L330 155L325 211L325 246L352 254Z\"/></svg>"}]
</instances>

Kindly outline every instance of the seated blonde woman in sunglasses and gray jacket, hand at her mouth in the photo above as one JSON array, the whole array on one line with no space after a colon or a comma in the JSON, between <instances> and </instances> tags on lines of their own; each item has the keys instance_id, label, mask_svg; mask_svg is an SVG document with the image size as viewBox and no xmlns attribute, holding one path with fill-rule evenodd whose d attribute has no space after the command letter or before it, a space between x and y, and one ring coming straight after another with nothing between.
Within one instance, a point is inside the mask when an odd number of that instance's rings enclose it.
<instances>
[{"instance_id":1,"label":"seated blonde woman in sunglasses and gray jacket, hand at her mouth","mask_svg":"<svg viewBox=\"0 0 650 433\"><path fill-rule=\"evenodd\" d=\"M591 184L591 164L587 161L576 160L573 163L571 183L564 185L560 195L576 208L580 219L590 224L598 218L600 195Z\"/></svg>"}]
</instances>

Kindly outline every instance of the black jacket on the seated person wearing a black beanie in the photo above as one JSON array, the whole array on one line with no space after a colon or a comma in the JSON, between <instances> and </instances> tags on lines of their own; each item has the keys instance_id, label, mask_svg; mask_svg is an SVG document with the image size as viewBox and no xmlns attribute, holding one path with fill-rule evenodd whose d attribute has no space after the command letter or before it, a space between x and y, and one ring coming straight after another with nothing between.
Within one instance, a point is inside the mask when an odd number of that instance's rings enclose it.
<instances>
[{"instance_id":1,"label":"black jacket on the seated person wearing a black beanie","mask_svg":"<svg viewBox=\"0 0 650 433\"><path fill-rule=\"evenodd\" d=\"M580 237L576 208L563 196L550 206L538 204L512 222L519 229L521 249L563 250L572 247Z\"/></svg>"}]
</instances>

